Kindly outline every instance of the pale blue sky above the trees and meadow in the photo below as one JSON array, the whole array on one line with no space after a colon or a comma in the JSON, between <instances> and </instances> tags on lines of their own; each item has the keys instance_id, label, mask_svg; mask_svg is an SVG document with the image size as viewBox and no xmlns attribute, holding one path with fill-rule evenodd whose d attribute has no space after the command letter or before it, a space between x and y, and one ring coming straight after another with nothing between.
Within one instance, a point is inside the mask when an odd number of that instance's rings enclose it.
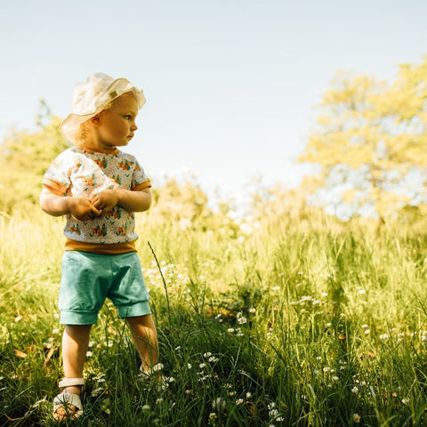
<instances>
[{"instance_id":1,"label":"pale blue sky above the trees and meadow","mask_svg":"<svg viewBox=\"0 0 427 427\"><path fill-rule=\"evenodd\" d=\"M73 85L102 71L144 90L127 150L154 181L294 185L334 72L391 80L427 54L426 16L425 0L3 2L0 136L31 128L41 98L65 117Z\"/></svg>"}]
</instances>

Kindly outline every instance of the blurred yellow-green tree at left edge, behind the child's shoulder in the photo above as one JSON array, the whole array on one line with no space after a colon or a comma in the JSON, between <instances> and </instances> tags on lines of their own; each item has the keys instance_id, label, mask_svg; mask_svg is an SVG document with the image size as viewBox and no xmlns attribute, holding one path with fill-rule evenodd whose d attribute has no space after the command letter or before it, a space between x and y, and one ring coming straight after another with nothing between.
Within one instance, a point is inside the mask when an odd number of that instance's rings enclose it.
<instances>
[{"instance_id":1,"label":"blurred yellow-green tree at left edge, behind the child's shoulder","mask_svg":"<svg viewBox=\"0 0 427 427\"><path fill-rule=\"evenodd\" d=\"M10 214L36 205L44 172L67 147L60 118L41 101L36 131L13 131L0 144L0 212Z\"/></svg>"}]
</instances>

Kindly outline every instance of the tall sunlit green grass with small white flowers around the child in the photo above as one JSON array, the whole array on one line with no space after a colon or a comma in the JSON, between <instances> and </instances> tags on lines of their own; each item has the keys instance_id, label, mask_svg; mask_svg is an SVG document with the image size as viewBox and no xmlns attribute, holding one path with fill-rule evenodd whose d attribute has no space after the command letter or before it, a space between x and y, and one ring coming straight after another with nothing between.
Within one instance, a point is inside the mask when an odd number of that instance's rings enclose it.
<instances>
[{"instance_id":1,"label":"tall sunlit green grass with small white flowers around the child","mask_svg":"<svg viewBox=\"0 0 427 427\"><path fill-rule=\"evenodd\" d=\"M415 225L141 215L168 381L139 378L107 303L73 425L427 425L427 238ZM61 228L36 208L0 216L1 426L56 424Z\"/></svg>"}]
</instances>

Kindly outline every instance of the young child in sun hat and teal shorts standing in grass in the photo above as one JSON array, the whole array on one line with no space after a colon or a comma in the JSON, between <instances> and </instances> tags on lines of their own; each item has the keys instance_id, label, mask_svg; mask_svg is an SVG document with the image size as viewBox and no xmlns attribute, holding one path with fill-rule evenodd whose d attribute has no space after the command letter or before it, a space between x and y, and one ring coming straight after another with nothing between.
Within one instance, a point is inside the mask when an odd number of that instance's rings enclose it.
<instances>
[{"instance_id":1,"label":"young child in sun hat and teal shorts standing in grass","mask_svg":"<svg viewBox=\"0 0 427 427\"><path fill-rule=\"evenodd\" d=\"M135 157L118 149L132 140L144 103L142 91L125 78L97 73L77 84L72 113L61 125L75 146L44 174L42 209L67 219L59 300L65 377L53 402L59 421L83 413L80 393L89 334L107 297L130 326L142 373L161 368L149 293L135 249L133 213L149 209L150 182Z\"/></svg>"}]
</instances>

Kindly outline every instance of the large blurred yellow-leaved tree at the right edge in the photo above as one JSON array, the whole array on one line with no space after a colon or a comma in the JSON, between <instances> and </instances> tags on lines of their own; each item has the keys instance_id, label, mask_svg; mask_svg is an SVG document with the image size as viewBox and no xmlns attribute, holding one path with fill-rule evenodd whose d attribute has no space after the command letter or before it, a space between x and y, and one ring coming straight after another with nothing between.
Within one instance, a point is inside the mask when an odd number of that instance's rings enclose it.
<instances>
[{"instance_id":1,"label":"large blurred yellow-leaved tree at the right edge","mask_svg":"<svg viewBox=\"0 0 427 427\"><path fill-rule=\"evenodd\" d=\"M321 102L301 162L320 166L350 214L389 216L425 201L427 56L388 84L337 74Z\"/></svg>"}]
</instances>

